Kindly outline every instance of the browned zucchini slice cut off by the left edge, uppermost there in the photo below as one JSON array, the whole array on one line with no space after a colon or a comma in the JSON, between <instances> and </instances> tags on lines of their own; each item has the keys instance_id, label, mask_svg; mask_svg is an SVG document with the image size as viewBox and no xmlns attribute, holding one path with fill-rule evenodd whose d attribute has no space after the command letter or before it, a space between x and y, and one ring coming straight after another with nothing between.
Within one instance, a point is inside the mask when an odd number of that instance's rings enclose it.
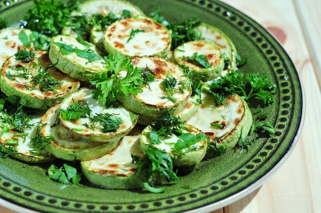
<instances>
[{"instance_id":1,"label":"browned zucchini slice cut off by the left edge, uppermost there","mask_svg":"<svg viewBox=\"0 0 321 213\"><path fill-rule=\"evenodd\" d=\"M5 28L0 30L0 66L5 60L13 56L18 50L23 49L23 42L19 39L19 33L22 28ZM24 29L29 36L31 31ZM32 49L32 48L31 48Z\"/></svg>"}]
</instances>

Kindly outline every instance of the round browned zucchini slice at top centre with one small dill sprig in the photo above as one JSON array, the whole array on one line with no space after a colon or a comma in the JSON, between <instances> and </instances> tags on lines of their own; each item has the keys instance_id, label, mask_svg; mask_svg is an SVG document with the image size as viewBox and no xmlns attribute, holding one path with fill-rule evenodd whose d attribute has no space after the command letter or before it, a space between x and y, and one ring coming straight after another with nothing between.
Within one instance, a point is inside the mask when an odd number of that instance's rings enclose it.
<instances>
[{"instance_id":1,"label":"round browned zucchini slice at top centre with one small dill sprig","mask_svg":"<svg viewBox=\"0 0 321 213\"><path fill-rule=\"evenodd\" d=\"M166 57L171 47L168 29L148 17L117 20L104 32L104 46L108 53L125 56Z\"/></svg>"}]
</instances>

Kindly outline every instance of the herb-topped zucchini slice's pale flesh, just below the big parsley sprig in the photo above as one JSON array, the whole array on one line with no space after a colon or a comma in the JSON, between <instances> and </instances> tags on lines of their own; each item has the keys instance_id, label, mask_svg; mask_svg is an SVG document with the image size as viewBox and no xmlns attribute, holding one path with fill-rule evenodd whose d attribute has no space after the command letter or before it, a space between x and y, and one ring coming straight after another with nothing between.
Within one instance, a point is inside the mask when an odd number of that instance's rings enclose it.
<instances>
[{"instance_id":1,"label":"herb-topped zucchini slice's pale flesh, just below the big parsley sprig","mask_svg":"<svg viewBox=\"0 0 321 213\"><path fill-rule=\"evenodd\" d=\"M96 142L110 142L119 140L121 137L129 133L135 126L138 116L130 112L122 104L116 107L105 108L102 102L94 99L92 93L94 90L88 88L82 88L78 92L71 94L65 98L61 103L61 108L67 110L69 105L74 101L86 102L91 109L93 115L95 114L111 114L123 120L123 123L119 124L119 128L116 132L102 132L103 126L97 123L93 129L86 127L84 124L90 124L88 117L79 118L77 120L64 120L61 115L61 125L64 126L68 131L74 135L83 138L85 140L96 141ZM131 116L135 116L134 122Z\"/></svg>"}]
</instances>

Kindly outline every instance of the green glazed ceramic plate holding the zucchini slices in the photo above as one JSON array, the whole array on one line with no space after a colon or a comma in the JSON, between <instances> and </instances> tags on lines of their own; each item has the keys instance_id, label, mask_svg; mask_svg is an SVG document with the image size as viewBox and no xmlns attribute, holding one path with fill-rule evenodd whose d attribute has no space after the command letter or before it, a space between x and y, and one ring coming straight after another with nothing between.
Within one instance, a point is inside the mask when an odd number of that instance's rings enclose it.
<instances>
[{"instance_id":1,"label":"green glazed ceramic plate holding the zucchini slices","mask_svg":"<svg viewBox=\"0 0 321 213\"><path fill-rule=\"evenodd\" d=\"M172 22L196 16L223 30L237 51L248 59L240 72L267 75L277 86L276 101L265 108L275 126L272 138L261 138L248 152L231 150L199 163L195 171L167 187L165 193L143 190L107 190L62 185L49 180L48 165L29 165L10 158L0 160L0 196L26 209L45 212L177 212L210 211L228 205L261 186L284 164L298 141L303 122L303 93L289 56L261 26L242 12L218 1L132 0L146 13L160 6ZM0 16L17 23L33 1L0 3ZM255 101L249 103L254 111ZM277 186L276 186L277 187Z\"/></svg>"}]
</instances>

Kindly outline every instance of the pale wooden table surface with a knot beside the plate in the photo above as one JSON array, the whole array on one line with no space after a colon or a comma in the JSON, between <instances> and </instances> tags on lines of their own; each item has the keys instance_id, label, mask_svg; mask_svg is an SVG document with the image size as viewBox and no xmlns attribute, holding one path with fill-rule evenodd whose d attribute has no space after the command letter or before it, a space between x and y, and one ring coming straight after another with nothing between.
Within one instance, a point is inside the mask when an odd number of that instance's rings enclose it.
<instances>
[{"instance_id":1,"label":"pale wooden table surface with a knot beside the plate","mask_svg":"<svg viewBox=\"0 0 321 213\"><path fill-rule=\"evenodd\" d=\"M302 135L284 166L252 194L211 213L321 212L321 1L223 2L269 30L288 52L303 84L306 113ZM16 211L0 206L0 212Z\"/></svg>"}]
</instances>

